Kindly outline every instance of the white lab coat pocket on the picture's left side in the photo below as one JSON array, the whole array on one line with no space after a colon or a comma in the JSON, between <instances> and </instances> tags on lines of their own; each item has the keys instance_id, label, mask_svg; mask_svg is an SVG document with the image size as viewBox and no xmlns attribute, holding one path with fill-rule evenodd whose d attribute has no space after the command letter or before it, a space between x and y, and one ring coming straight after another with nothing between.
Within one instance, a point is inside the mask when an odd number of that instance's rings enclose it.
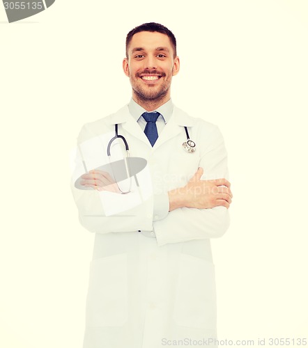
<instances>
[{"instance_id":1,"label":"white lab coat pocket on the picture's left side","mask_svg":"<svg viewBox=\"0 0 308 348\"><path fill-rule=\"evenodd\" d=\"M122 326L128 315L127 254L91 262L86 301L87 326Z\"/></svg>"}]
</instances>

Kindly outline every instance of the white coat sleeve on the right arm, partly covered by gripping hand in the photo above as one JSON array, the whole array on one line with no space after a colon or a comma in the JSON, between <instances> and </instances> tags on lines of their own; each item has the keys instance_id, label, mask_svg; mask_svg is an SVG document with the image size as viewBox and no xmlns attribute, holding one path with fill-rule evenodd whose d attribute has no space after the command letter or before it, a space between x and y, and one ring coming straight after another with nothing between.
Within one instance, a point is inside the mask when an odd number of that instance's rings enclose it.
<instances>
[{"instance_id":1,"label":"white coat sleeve on the right arm, partly covered by gripping hand","mask_svg":"<svg viewBox=\"0 0 308 348\"><path fill-rule=\"evenodd\" d=\"M204 139L202 127L199 131L201 134L198 139ZM218 127L214 125L208 141L201 142L199 166L203 168L202 180L228 178L224 139ZM229 210L226 207L212 209L183 207L169 212L164 219L154 221L159 245L221 237L228 227Z\"/></svg>"}]
</instances>

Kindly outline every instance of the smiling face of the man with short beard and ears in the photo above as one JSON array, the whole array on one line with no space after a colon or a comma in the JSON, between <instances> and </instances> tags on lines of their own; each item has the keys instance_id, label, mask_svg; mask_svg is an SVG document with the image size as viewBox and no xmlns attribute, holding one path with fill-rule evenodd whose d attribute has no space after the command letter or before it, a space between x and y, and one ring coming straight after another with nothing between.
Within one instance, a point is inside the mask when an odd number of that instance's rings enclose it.
<instances>
[{"instance_id":1,"label":"smiling face of the man with short beard and ears","mask_svg":"<svg viewBox=\"0 0 308 348\"><path fill-rule=\"evenodd\" d=\"M144 102L169 100L171 80L179 68L180 61L174 58L167 35L141 31L132 36L123 70L130 77L132 93L137 99Z\"/></svg>"}]
</instances>

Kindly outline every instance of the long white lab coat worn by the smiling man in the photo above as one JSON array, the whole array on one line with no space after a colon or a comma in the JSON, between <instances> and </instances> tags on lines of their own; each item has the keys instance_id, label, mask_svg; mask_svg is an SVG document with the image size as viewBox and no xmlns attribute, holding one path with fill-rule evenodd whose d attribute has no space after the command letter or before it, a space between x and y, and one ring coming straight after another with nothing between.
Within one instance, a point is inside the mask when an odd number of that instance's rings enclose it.
<instances>
[{"instance_id":1,"label":"long white lab coat worn by the smiling man","mask_svg":"<svg viewBox=\"0 0 308 348\"><path fill-rule=\"evenodd\" d=\"M124 106L82 128L79 155L87 170L104 161L116 123L118 133L128 141L130 156L147 161L137 175L142 202L135 200L136 187L126 195L72 187L82 226L95 232L84 348L158 348L180 345L180 340L185 347L196 347L196 340L200 345L216 335L210 238L226 232L229 212L224 207L183 207L167 215L154 214L153 202L163 191L182 187L199 166L202 179L226 177L222 135L215 125L174 106L152 148ZM194 153L183 150L183 126L196 143ZM78 159L76 167L82 171ZM133 205L128 203L130 197ZM127 204L129 209L123 211ZM109 210L111 205L114 210ZM156 237L143 232L151 230Z\"/></svg>"}]
</instances>

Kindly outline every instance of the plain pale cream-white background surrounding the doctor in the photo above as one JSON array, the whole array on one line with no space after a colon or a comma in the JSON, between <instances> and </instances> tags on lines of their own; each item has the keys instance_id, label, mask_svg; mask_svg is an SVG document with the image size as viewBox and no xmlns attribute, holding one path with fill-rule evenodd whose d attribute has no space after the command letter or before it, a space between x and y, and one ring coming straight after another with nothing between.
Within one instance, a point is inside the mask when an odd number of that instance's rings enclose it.
<instances>
[{"instance_id":1,"label":"plain pale cream-white background surrounding the doctor","mask_svg":"<svg viewBox=\"0 0 308 348\"><path fill-rule=\"evenodd\" d=\"M0 347L82 347L93 235L68 157L84 122L129 101L125 35L144 22L175 33L174 103L229 152L220 338L307 338L307 1L58 0L12 24L0 4L0 22Z\"/></svg>"}]
</instances>

